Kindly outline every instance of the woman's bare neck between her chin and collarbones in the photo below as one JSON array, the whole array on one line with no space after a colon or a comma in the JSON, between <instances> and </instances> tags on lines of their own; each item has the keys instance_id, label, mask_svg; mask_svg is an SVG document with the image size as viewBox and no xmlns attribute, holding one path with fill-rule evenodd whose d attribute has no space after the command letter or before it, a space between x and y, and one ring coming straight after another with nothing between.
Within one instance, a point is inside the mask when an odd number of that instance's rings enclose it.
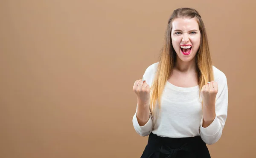
<instances>
[{"instance_id":1,"label":"woman's bare neck between her chin and collarbones","mask_svg":"<svg viewBox=\"0 0 256 158\"><path fill-rule=\"evenodd\" d=\"M174 69L180 71L180 72L195 72L196 71L196 61L195 58L191 61L185 62L180 60L177 57L177 60L174 65Z\"/></svg>"}]
</instances>

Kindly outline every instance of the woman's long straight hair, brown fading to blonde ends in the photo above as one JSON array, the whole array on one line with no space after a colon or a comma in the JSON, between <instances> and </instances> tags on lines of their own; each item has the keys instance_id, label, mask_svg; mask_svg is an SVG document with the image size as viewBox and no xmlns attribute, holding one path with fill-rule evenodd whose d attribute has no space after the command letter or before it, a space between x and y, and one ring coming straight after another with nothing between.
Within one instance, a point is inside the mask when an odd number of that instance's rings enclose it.
<instances>
[{"instance_id":1,"label":"woman's long straight hair, brown fading to blonde ends","mask_svg":"<svg viewBox=\"0 0 256 158\"><path fill-rule=\"evenodd\" d=\"M162 92L166 81L172 74L174 63L176 60L176 53L172 46L172 22L176 18L187 17L194 18L197 20L199 25L199 30L201 32L201 43L198 52L195 56L197 71L198 71L198 81L199 81L199 92L201 92L202 87L207 84L207 82L214 80L213 70L212 70L212 60L209 52L209 44L206 34L206 29L204 23L199 15L198 11L191 8L180 8L173 11L172 16L168 20L167 29L165 32L165 38L163 42L163 47L161 49L160 59L157 67L157 72L154 81L151 86L151 97L150 97L150 111L154 113L157 102L160 108L160 100L162 97ZM199 95L200 96L200 95Z\"/></svg>"}]
</instances>

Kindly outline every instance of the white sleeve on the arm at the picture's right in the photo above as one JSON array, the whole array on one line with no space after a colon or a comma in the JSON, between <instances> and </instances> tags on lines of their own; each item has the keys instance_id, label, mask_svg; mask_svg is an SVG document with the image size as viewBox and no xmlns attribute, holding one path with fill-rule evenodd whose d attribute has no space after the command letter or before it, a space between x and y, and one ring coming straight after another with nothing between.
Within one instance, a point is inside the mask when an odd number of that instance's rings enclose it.
<instances>
[{"instance_id":1,"label":"white sleeve on the arm at the picture's right","mask_svg":"<svg viewBox=\"0 0 256 158\"><path fill-rule=\"evenodd\" d=\"M200 135L202 140L206 144L216 143L222 135L222 130L224 128L227 119L227 105L228 105L228 89L227 89L227 78L222 74L222 78L218 80L218 93L216 95L215 103L215 119L212 124L204 128L203 117L200 124Z\"/></svg>"}]
</instances>

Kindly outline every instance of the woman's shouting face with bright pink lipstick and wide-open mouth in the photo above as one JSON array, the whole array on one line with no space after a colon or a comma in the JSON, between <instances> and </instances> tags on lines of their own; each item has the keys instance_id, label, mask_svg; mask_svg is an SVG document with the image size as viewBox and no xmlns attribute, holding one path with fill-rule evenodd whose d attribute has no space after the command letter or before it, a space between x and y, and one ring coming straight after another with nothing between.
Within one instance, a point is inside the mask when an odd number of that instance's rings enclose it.
<instances>
[{"instance_id":1,"label":"woman's shouting face with bright pink lipstick and wide-open mouth","mask_svg":"<svg viewBox=\"0 0 256 158\"><path fill-rule=\"evenodd\" d=\"M201 33L195 18L177 18L172 22L172 46L180 60L192 60L200 46Z\"/></svg>"}]
</instances>

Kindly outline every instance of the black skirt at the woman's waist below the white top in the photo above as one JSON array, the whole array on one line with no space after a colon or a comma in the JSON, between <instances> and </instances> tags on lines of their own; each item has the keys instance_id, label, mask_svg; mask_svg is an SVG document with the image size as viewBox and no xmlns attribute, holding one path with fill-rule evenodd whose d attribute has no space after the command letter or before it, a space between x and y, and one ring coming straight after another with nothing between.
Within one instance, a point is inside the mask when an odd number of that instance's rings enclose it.
<instances>
[{"instance_id":1,"label":"black skirt at the woman's waist below the white top","mask_svg":"<svg viewBox=\"0 0 256 158\"><path fill-rule=\"evenodd\" d=\"M201 136L167 138L150 133L140 158L211 158Z\"/></svg>"}]
</instances>

